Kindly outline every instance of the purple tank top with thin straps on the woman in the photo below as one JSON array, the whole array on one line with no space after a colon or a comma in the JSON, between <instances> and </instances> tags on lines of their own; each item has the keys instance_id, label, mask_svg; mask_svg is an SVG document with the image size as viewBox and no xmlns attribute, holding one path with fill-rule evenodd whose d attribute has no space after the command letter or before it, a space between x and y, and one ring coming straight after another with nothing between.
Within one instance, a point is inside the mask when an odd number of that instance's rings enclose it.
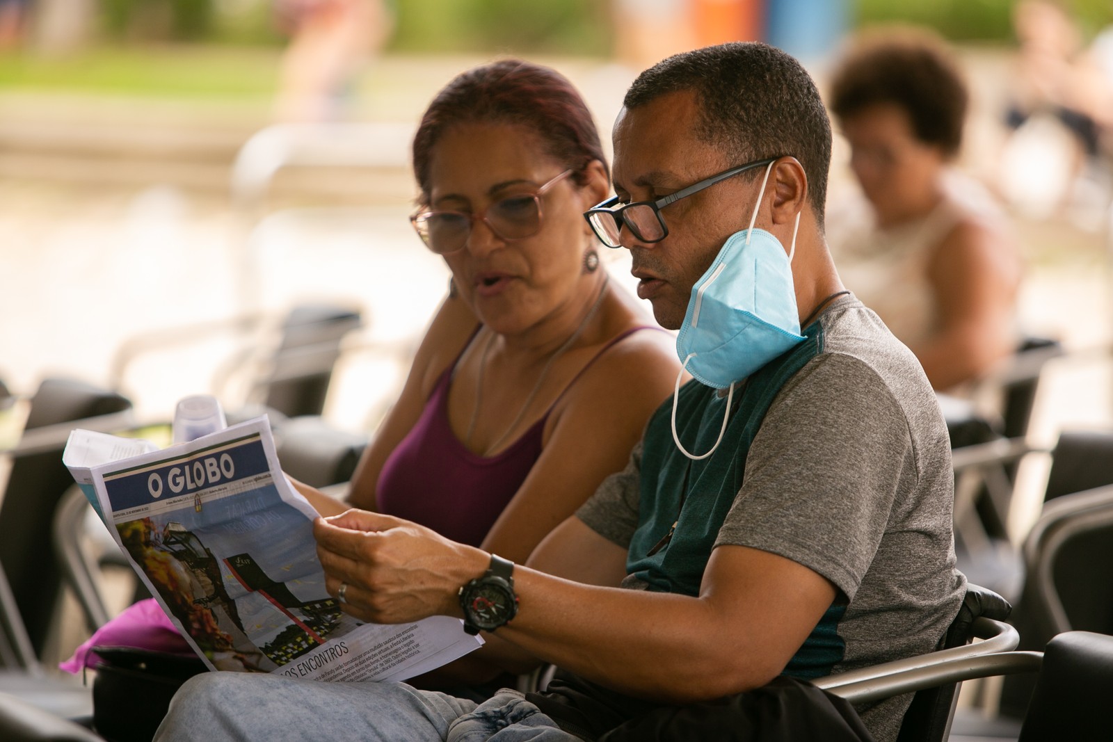
<instances>
[{"instance_id":1,"label":"purple tank top with thin straps on the woman","mask_svg":"<svg viewBox=\"0 0 1113 742\"><path fill-rule=\"evenodd\" d=\"M560 396L608 348L649 327L633 327L614 337L580 369ZM377 505L381 513L420 523L462 544L479 546L541 456L541 438L552 407L510 447L494 456L474 454L456 438L449 423L449 387L459 362L460 356L444 369L417 423L383 464Z\"/></svg>"}]
</instances>

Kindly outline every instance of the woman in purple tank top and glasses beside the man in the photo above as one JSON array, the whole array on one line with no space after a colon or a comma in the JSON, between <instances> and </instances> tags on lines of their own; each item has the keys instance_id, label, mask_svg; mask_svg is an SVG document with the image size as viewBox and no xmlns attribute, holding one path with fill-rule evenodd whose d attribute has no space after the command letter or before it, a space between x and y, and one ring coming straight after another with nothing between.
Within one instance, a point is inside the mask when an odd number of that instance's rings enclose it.
<instances>
[{"instance_id":1,"label":"woman in purple tank top and glasses beside the man","mask_svg":"<svg viewBox=\"0 0 1113 742\"><path fill-rule=\"evenodd\" d=\"M672 336L600 263L583 211L609 172L562 76L518 60L460 75L413 158L412 220L452 270L450 294L347 504L299 488L325 515L398 515L524 562L626 465L672 392Z\"/></svg>"}]
</instances>

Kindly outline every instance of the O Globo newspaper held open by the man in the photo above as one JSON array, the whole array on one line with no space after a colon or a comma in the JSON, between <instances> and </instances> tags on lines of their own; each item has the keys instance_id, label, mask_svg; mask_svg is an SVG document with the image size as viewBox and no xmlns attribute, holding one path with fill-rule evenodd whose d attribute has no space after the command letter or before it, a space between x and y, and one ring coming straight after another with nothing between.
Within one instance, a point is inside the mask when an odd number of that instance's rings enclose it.
<instances>
[{"instance_id":1,"label":"O Globo newspaper held open by the man","mask_svg":"<svg viewBox=\"0 0 1113 742\"><path fill-rule=\"evenodd\" d=\"M459 619L383 625L341 611L317 513L282 474L266 417L165 449L76 429L63 461L210 670L401 681L483 643Z\"/></svg>"}]
</instances>

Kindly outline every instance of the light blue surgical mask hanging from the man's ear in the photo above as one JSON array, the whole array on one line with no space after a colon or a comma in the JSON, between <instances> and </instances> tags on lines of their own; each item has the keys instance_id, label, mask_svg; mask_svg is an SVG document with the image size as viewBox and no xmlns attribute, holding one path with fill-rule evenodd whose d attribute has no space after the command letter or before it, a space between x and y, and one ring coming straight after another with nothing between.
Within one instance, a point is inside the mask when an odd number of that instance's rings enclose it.
<instances>
[{"instance_id":1,"label":"light blue surgical mask hanging from the man's ear","mask_svg":"<svg viewBox=\"0 0 1113 742\"><path fill-rule=\"evenodd\" d=\"M761 180L749 228L727 239L692 286L677 335L677 355L683 367L672 397L672 438L693 461L710 456L722 441L735 385L805 339L800 335L791 269L800 215L796 215L788 255L780 240L765 229L754 228L770 169L772 162ZM699 456L688 453L677 435L677 395L684 370L707 386L729 387L719 439L711 451Z\"/></svg>"}]
</instances>

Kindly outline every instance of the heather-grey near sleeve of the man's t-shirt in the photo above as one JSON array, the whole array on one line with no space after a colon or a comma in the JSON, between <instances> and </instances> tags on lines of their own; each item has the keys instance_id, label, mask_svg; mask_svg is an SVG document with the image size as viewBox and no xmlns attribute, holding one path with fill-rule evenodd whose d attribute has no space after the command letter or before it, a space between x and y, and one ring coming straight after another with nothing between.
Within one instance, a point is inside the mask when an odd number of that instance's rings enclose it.
<instances>
[{"instance_id":1,"label":"heather-grey near sleeve of the man's t-shirt","mask_svg":"<svg viewBox=\"0 0 1113 742\"><path fill-rule=\"evenodd\" d=\"M818 356L769 407L716 546L785 556L853 598L902 477L915 471L910 439L874 369L843 354Z\"/></svg>"}]
</instances>

